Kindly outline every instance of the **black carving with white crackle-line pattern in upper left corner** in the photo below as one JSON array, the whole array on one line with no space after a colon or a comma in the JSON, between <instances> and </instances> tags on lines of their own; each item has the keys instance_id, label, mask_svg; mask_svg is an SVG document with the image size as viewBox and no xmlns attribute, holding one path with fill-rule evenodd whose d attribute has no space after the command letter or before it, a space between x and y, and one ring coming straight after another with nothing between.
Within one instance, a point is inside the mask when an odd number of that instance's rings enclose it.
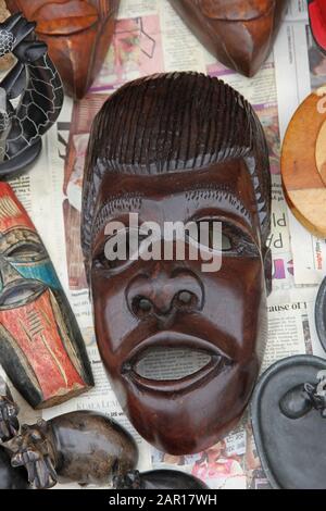
<instances>
[{"instance_id":1,"label":"black carving with white crackle-line pattern in upper left corner","mask_svg":"<svg viewBox=\"0 0 326 511\"><path fill-rule=\"evenodd\" d=\"M34 28L22 14L0 24L0 57L12 52L17 60L0 83L0 176L35 161L63 103L60 76Z\"/></svg>"}]
</instances>

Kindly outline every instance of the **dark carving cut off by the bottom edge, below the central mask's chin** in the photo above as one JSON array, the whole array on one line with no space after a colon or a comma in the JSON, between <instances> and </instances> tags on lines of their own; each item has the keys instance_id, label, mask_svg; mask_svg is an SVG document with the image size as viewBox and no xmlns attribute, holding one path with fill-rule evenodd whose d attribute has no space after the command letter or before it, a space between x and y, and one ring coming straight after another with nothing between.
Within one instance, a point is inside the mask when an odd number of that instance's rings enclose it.
<instances>
[{"instance_id":1,"label":"dark carving cut off by the bottom edge, below the central mask's chin","mask_svg":"<svg viewBox=\"0 0 326 511\"><path fill-rule=\"evenodd\" d=\"M209 489L193 475L176 470L152 470L139 473L128 472L124 477L114 478L115 489Z\"/></svg>"}]
</instances>

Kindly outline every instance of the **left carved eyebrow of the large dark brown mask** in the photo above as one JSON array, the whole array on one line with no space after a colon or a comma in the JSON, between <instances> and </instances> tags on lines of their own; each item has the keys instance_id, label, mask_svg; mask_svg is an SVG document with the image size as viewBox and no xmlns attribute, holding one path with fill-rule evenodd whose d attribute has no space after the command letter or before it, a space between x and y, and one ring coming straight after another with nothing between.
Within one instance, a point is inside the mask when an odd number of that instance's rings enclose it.
<instances>
[{"instance_id":1,"label":"left carved eyebrow of the large dark brown mask","mask_svg":"<svg viewBox=\"0 0 326 511\"><path fill-rule=\"evenodd\" d=\"M96 213L92 238L114 217L123 213L136 213L142 203L141 194L121 194L109 197Z\"/></svg>"}]
</instances>

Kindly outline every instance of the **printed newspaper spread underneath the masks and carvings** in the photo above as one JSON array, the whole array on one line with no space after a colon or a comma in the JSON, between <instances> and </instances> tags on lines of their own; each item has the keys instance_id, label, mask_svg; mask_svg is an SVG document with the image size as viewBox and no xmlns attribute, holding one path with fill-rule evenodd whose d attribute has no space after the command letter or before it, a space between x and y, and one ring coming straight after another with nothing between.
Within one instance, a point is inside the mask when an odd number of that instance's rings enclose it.
<instances>
[{"instance_id":1,"label":"printed newspaper spread underneath the masks and carvings","mask_svg":"<svg viewBox=\"0 0 326 511\"><path fill-rule=\"evenodd\" d=\"M224 67L189 32L165 0L122 0L113 41L91 90L82 101L65 98L62 113L43 139L33 170L12 185L29 212L52 258L87 345L95 388L64 404L42 411L45 419L73 410L96 410L123 424L138 443L139 469L173 468L203 479L213 489L266 488L253 441L250 411L226 438L204 452L173 457L139 437L124 415L103 369L95 338L89 291L80 249L80 208L84 160L91 122L114 90L130 79L153 73L198 71L224 79L254 107L266 134L273 183L273 292L268 298L268 340L262 371L291 354L325 357L314 324L317 284L326 264L325 240L315 240L289 214L281 189L280 144L296 108L322 82L322 64L312 67L306 3L291 0L274 54L252 78ZM326 63L325 63L326 78ZM325 79L326 82L326 79ZM304 245L303 245L304 244ZM306 250L304 253L301 247ZM298 285L300 285L298 287ZM310 286L308 286L310 285ZM172 372L180 377L198 369L203 356L159 353L141 367L145 375ZM159 363L158 363L159 360ZM140 370L139 370L140 371ZM22 422L37 413L17 392Z\"/></svg>"}]
</instances>

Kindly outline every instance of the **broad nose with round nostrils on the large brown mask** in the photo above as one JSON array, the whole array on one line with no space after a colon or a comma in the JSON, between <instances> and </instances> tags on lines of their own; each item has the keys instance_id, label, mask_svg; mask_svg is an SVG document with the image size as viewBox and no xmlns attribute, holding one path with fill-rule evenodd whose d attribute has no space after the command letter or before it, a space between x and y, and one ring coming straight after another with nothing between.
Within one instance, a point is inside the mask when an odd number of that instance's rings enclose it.
<instances>
[{"instance_id":1,"label":"broad nose with round nostrils on the large brown mask","mask_svg":"<svg viewBox=\"0 0 326 511\"><path fill-rule=\"evenodd\" d=\"M195 312L202 308L203 290L198 278L184 269L138 275L127 288L129 310L143 320L155 315L172 317L176 312Z\"/></svg>"}]
</instances>

